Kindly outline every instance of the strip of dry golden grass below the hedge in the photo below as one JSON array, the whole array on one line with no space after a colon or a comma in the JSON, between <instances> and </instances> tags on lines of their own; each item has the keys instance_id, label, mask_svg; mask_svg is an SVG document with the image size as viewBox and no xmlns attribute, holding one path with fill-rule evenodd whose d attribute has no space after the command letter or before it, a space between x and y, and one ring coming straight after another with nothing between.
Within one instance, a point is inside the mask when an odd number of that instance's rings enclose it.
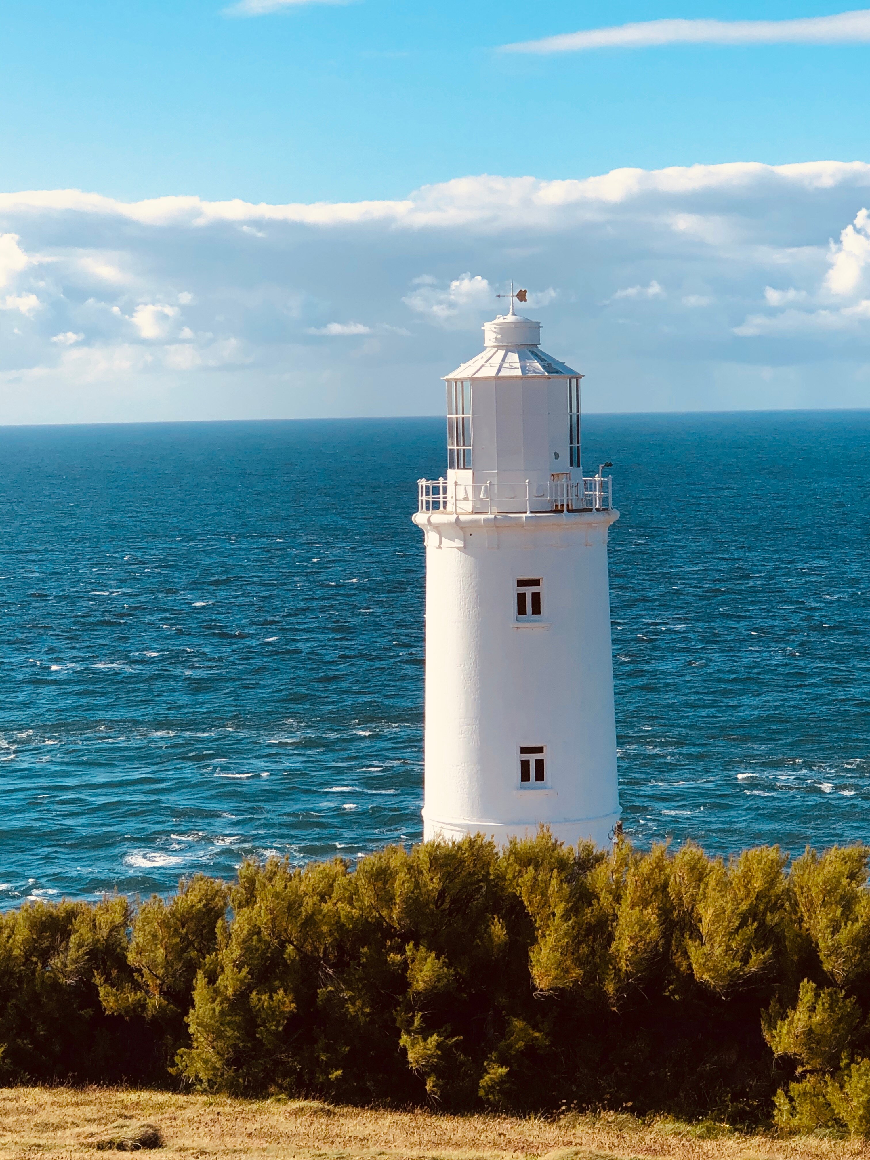
<instances>
[{"instance_id":1,"label":"strip of dry golden grass below the hedge","mask_svg":"<svg viewBox=\"0 0 870 1160\"><path fill-rule=\"evenodd\" d=\"M148 1126L164 1144L155 1160L870 1160L870 1143L744 1136L709 1121L645 1124L624 1114L449 1116L119 1088L0 1089L0 1158L96 1160L99 1148L136 1146Z\"/></svg>"}]
</instances>

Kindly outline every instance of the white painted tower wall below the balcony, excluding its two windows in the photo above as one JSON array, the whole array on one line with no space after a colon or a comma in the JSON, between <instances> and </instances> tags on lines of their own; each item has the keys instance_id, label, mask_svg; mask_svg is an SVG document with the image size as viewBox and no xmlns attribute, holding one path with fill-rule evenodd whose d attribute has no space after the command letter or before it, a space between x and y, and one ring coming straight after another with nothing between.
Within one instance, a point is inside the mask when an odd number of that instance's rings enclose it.
<instances>
[{"instance_id":1,"label":"white painted tower wall below the balcony, excluding its two windows","mask_svg":"<svg viewBox=\"0 0 870 1160\"><path fill-rule=\"evenodd\" d=\"M534 834L607 846L619 817L607 531L618 513L419 514L426 531L427 839ZM517 626L516 579L544 623ZM519 747L546 746L545 789Z\"/></svg>"}]
</instances>

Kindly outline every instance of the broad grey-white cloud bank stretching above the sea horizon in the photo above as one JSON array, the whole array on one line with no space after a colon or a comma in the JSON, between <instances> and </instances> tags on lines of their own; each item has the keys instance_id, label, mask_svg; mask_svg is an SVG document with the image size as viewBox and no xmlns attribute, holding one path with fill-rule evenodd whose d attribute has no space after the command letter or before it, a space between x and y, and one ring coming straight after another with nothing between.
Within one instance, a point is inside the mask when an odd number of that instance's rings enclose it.
<instances>
[{"instance_id":1,"label":"broad grey-white cloud bank stretching above the sea horizon","mask_svg":"<svg viewBox=\"0 0 870 1160\"><path fill-rule=\"evenodd\" d=\"M870 405L870 165L0 195L0 422L433 414L508 281L594 411Z\"/></svg>"}]
</instances>

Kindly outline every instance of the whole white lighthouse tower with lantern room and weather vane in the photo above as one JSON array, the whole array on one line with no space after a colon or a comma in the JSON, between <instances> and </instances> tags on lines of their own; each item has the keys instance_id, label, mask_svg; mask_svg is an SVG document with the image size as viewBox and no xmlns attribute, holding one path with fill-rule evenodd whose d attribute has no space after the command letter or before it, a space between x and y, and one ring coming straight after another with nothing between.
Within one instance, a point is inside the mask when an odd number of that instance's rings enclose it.
<instances>
[{"instance_id":1,"label":"whole white lighthouse tower with lantern room and weather vane","mask_svg":"<svg viewBox=\"0 0 870 1160\"><path fill-rule=\"evenodd\" d=\"M606 847L619 819L611 478L583 477L579 371L510 307L447 382L447 473L426 541L423 836L538 826Z\"/></svg>"}]
</instances>

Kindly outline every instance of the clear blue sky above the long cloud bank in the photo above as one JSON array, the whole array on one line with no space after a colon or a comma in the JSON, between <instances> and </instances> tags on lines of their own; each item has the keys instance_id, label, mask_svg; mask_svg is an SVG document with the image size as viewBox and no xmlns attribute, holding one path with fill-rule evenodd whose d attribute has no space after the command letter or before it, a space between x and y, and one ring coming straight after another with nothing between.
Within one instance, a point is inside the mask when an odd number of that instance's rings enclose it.
<instances>
[{"instance_id":1,"label":"clear blue sky above the long cloud bank","mask_svg":"<svg viewBox=\"0 0 870 1160\"><path fill-rule=\"evenodd\" d=\"M867 44L496 51L665 16L842 10L829 3L358 0L249 17L226 7L3 0L3 188L341 201L464 174L868 154Z\"/></svg>"}]
</instances>

